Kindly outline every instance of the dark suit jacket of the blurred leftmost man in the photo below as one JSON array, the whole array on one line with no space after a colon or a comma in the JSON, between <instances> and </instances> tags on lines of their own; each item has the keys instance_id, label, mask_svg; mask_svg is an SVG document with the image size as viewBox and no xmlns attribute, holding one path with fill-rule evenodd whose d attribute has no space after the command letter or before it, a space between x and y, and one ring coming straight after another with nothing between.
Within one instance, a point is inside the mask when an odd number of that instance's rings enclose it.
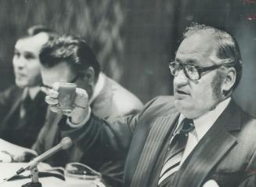
<instances>
[{"instance_id":1,"label":"dark suit jacket of the blurred leftmost man","mask_svg":"<svg viewBox=\"0 0 256 187\"><path fill-rule=\"evenodd\" d=\"M0 138L18 146L31 148L45 122L47 104L45 94L38 92L31 108L27 109L27 124L19 127L20 102L23 89L16 86L7 88L0 93Z\"/></svg>"}]
</instances>

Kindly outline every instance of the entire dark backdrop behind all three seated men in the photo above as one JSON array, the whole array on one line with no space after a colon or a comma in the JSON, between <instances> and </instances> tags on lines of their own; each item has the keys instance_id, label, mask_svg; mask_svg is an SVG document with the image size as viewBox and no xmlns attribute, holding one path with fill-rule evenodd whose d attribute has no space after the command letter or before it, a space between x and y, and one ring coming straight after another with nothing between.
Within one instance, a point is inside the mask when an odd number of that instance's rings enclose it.
<instances>
[{"instance_id":1,"label":"entire dark backdrop behind all three seated men","mask_svg":"<svg viewBox=\"0 0 256 187\"><path fill-rule=\"evenodd\" d=\"M13 84L16 39L34 24L78 34L103 72L143 102L172 94L168 59L191 22L231 32L243 55L235 97L256 116L256 0L0 0L0 89Z\"/></svg>"}]
</instances>

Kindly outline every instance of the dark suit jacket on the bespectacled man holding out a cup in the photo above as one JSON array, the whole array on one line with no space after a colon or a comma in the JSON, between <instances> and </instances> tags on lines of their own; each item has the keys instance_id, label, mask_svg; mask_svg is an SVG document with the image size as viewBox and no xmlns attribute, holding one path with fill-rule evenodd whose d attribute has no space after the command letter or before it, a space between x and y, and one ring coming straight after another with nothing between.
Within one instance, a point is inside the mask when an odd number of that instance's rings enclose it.
<instances>
[{"instance_id":1,"label":"dark suit jacket on the bespectacled man holding out a cup","mask_svg":"<svg viewBox=\"0 0 256 187\"><path fill-rule=\"evenodd\" d=\"M161 96L148 102L137 115L108 122L92 115L81 128L69 128L66 124L62 128L81 149L108 149L112 151L108 156L115 159L127 155L124 186L148 187L157 186L163 164L160 156L178 116L173 98ZM168 186L202 186L210 179L220 186L238 186L255 174L255 134L256 120L232 100Z\"/></svg>"}]
</instances>

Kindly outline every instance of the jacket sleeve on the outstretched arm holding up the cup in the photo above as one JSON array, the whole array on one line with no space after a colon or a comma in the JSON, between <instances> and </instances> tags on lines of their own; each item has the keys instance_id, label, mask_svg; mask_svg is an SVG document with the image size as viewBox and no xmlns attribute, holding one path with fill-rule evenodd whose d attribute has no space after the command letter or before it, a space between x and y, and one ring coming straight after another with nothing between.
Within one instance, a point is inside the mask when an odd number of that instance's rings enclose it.
<instances>
[{"instance_id":1,"label":"jacket sleeve on the outstretched arm holding up the cup","mask_svg":"<svg viewBox=\"0 0 256 187\"><path fill-rule=\"evenodd\" d=\"M126 156L133 131L146 110L156 99L148 102L141 112L126 117L102 120L92 116L80 128L70 128L66 121L60 122L62 137L70 136L74 143L85 153L90 149L99 149L104 156L120 159Z\"/></svg>"}]
</instances>

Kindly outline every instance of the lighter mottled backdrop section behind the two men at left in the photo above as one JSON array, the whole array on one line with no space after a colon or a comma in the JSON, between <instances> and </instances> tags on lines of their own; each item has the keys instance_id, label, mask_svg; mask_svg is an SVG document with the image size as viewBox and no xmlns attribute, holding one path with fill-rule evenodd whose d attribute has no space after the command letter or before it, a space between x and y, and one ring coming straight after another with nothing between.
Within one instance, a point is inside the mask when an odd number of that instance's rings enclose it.
<instances>
[{"instance_id":1,"label":"lighter mottled backdrop section behind the two men at left","mask_svg":"<svg viewBox=\"0 0 256 187\"><path fill-rule=\"evenodd\" d=\"M45 24L60 34L78 34L88 41L106 72L121 77L118 67L124 48L121 28L124 13L112 0L0 0L0 66L5 79L1 88L13 82L13 46L34 24Z\"/></svg>"}]
</instances>

